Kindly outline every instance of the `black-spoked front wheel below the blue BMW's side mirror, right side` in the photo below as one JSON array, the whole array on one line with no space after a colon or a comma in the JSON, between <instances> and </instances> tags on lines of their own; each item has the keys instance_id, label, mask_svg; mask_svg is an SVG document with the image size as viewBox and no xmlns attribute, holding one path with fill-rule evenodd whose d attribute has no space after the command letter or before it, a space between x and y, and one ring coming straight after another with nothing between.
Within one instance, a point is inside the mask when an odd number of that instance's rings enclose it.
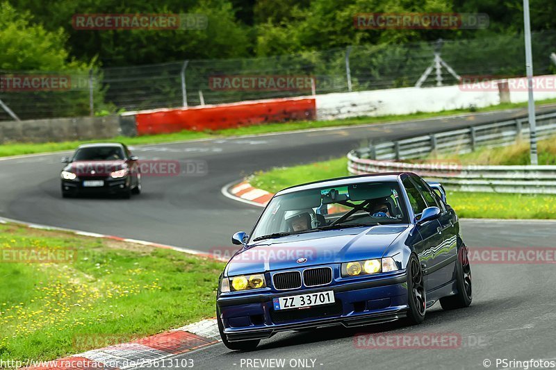
<instances>
[{"instance_id":1,"label":"black-spoked front wheel below the blue BMW's side mirror, right side","mask_svg":"<svg viewBox=\"0 0 556 370\"><path fill-rule=\"evenodd\" d=\"M427 312L425 280L423 279L423 268L415 255L411 255L407 262L407 302L409 310L406 323L417 325L425 321Z\"/></svg>"}]
</instances>

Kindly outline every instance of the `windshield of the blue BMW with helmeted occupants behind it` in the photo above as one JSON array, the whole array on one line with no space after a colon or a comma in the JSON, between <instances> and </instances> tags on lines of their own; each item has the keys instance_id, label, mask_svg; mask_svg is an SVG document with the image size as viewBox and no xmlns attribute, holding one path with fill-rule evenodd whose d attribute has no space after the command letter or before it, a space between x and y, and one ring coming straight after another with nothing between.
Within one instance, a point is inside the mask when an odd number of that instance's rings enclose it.
<instances>
[{"instance_id":1,"label":"windshield of the blue BMW with helmeted occupants behind it","mask_svg":"<svg viewBox=\"0 0 556 370\"><path fill-rule=\"evenodd\" d=\"M276 196L265 208L251 240L407 222L398 183L354 183Z\"/></svg>"}]
</instances>

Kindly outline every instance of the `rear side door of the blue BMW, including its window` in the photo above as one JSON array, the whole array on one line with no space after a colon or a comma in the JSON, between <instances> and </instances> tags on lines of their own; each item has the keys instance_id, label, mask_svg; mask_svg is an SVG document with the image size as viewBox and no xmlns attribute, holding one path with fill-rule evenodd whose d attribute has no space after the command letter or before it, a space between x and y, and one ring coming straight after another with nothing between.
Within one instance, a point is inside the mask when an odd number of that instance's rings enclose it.
<instances>
[{"instance_id":1,"label":"rear side door of the blue BMW, including its window","mask_svg":"<svg viewBox=\"0 0 556 370\"><path fill-rule=\"evenodd\" d=\"M441 215L438 219L441 227L441 244L433 253L432 264L427 267L430 272L430 286L440 287L452 281L457 258L457 226L455 225L455 212L439 199L423 178L411 176L428 207L438 207Z\"/></svg>"}]
</instances>

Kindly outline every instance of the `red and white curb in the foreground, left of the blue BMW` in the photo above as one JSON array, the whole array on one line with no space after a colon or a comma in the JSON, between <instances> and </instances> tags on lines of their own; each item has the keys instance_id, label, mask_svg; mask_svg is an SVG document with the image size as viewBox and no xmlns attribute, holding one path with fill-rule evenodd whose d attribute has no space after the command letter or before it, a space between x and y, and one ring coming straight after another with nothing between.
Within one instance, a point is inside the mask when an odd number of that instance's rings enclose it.
<instances>
[{"instance_id":1,"label":"red and white curb in the foreground, left of the blue BMW","mask_svg":"<svg viewBox=\"0 0 556 370\"><path fill-rule=\"evenodd\" d=\"M79 353L45 362L44 366L26 369L133 369L153 365L165 367L165 363L161 360L218 342L220 342L218 324L215 319L207 319L171 330L169 333Z\"/></svg>"}]
</instances>

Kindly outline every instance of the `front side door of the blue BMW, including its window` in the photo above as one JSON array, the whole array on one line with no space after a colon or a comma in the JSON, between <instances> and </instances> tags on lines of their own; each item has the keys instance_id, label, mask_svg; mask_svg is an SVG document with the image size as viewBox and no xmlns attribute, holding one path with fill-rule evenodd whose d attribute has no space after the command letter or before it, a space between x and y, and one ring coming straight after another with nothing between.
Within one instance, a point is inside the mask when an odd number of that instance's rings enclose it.
<instances>
[{"instance_id":1,"label":"front side door of the blue BMW, including its window","mask_svg":"<svg viewBox=\"0 0 556 370\"><path fill-rule=\"evenodd\" d=\"M423 194L418 190L414 181L409 178L402 180L405 191L409 198L409 203L413 209L414 215L418 219L423 210L428 207ZM421 236L420 242L414 244L414 249L418 255L421 266L423 266L423 274L425 276L425 287L430 290L432 287L436 287L435 279L430 280L428 275L428 269L430 266L434 265L434 251L439 248L442 244L443 239L441 235L440 223L437 220L432 220L425 222L425 224L415 226L416 230Z\"/></svg>"}]
</instances>

